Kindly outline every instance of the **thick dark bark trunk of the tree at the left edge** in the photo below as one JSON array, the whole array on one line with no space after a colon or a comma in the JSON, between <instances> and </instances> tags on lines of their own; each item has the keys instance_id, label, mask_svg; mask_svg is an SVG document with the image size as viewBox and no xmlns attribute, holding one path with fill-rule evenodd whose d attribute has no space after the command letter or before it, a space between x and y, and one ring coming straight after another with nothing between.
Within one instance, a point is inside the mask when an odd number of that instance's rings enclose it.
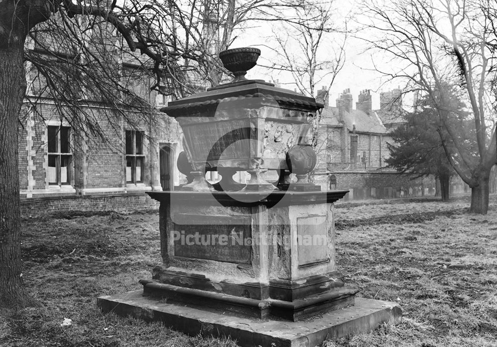
<instances>
[{"instance_id":1,"label":"thick dark bark trunk of the tree at the left edge","mask_svg":"<svg viewBox=\"0 0 497 347\"><path fill-rule=\"evenodd\" d=\"M18 117L26 91L22 44L0 45L0 308L24 306L20 246Z\"/></svg>"}]
</instances>

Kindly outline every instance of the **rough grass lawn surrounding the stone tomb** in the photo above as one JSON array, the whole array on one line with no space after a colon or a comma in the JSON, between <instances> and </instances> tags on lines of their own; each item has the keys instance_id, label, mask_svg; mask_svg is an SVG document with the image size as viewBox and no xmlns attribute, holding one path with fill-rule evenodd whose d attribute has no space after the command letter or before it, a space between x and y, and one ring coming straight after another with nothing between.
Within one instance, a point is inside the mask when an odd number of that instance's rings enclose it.
<instances>
[{"instance_id":1,"label":"rough grass lawn surrounding the stone tomb","mask_svg":"<svg viewBox=\"0 0 497 347\"><path fill-rule=\"evenodd\" d=\"M360 296L399 301L404 319L325 346L497 346L497 201L339 204L337 264ZM0 317L0 346L236 346L102 315L99 295L141 289L160 262L157 213L23 219L23 278L42 307ZM65 318L72 324L61 326Z\"/></svg>"}]
</instances>

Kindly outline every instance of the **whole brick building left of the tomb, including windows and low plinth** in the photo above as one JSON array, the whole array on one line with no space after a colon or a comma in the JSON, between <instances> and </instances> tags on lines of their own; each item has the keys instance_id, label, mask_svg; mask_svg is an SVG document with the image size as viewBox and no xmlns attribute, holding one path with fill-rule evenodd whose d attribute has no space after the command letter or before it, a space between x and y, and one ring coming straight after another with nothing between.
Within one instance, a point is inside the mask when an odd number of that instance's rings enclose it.
<instances>
[{"instance_id":1,"label":"whole brick building left of the tomb, including windows and low plinth","mask_svg":"<svg viewBox=\"0 0 497 347\"><path fill-rule=\"evenodd\" d=\"M124 106L100 102L98 97L82 98L78 110L91 117L83 124L84 131L81 124L75 127L66 120L64 105L61 114L61 101L48 95L46 82L32 73L28 63L28 89L18 136L24 214L146 209L155 207L146 191L170 189L180 183L175 162L182 151L181 129L173 118L158 111L168 97L150 90L154 77L143 73L137 57L122 51L119 56L112 53L118 58L112 73L120 73L122 85L148 107L139 110L129 107L132 102ZM91 124L105 136L92 132Z\"/></svg>"}]
</instances>

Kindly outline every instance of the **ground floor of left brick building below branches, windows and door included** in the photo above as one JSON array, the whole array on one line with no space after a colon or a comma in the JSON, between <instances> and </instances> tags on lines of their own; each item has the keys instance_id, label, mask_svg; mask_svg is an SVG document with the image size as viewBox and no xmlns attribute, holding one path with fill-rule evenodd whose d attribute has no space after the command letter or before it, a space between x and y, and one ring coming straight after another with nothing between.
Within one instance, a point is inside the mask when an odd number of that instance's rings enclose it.
<instances>
[{"instance_id":1,"label":"ground floor of left brick building below branches, windows and door included","mask_svg":"<svg viewBox=\"0 0 497 347\"><path fill-rule=\"evenodd\" d=\"M109 121L97 111L106 132L101 139L75 133L69 123L51 113L49 100L37 106L44 109L44 119L26 105L24 121L19 124L19 182L24 203L68 196L138 196L180 183L174 163L182 150L181 130L174 119L154 111L151 122L136 129L119 119ZM68 200L67 204L78 207L83 203Z\"/></svg>"}]
</instances>

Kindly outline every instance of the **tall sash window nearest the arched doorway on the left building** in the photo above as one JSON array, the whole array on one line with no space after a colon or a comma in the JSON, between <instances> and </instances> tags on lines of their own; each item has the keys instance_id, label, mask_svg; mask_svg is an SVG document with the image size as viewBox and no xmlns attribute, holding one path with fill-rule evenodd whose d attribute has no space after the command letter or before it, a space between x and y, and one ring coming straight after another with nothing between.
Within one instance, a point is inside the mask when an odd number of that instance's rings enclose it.
<instances>
[{"instance_id":1,"label":"tall sash window nearest the arched doorway on the left building","mask_svg":"<svg viewBox=\"0 0 497 347\"><path fill-rule=\"evenodd\" d=\"M143 181L143 132L126 130L126 182Z\"/></svg>"}]
</instances>

